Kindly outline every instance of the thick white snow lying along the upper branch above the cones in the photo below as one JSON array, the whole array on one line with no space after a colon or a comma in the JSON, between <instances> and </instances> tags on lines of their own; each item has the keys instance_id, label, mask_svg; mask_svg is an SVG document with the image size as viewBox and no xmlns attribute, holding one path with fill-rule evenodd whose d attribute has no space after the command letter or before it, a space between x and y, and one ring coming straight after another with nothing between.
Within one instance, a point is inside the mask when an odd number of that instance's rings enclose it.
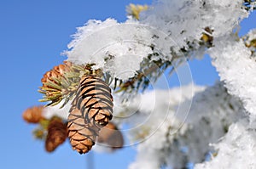
<instances>
[{"instance_id":1,"label":"thick white snow lying along the upper branch above the cones","mask_svg":"<svg viewBox=\"0 0 256 169\"><path fill-rule=\"evenodd\" d=\"M65 54L75 64L96 64L95 68L127 80L140 70L148 54L154 56L150 61L168 60L172 65L201 58L206 48L202 35L215 38L230 33L248 15L243 3L160 0L139 20L89 20L78 28Z\"/></svg>"}]
</instances>

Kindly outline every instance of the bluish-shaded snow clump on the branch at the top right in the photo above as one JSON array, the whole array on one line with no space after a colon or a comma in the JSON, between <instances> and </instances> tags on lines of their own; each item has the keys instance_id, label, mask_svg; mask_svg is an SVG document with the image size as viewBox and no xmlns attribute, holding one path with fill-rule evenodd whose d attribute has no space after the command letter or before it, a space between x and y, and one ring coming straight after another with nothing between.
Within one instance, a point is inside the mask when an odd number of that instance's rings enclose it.
<instances>
[{"instance_id":1,"label":"bluish-shaded snow clump on the branch at the top right","mask_svg":"<svg viewBox=\"0 0 256 169\"><path fill-rule=\"evenodd\" d=\"M206 27L214 29L213 37L219 37L231 32L245 17L247 11L241 0L160 0L142 13L141 21L166 32L178 47L188 48L186 43L199 40Z\"/></svg>"}]
</instances>

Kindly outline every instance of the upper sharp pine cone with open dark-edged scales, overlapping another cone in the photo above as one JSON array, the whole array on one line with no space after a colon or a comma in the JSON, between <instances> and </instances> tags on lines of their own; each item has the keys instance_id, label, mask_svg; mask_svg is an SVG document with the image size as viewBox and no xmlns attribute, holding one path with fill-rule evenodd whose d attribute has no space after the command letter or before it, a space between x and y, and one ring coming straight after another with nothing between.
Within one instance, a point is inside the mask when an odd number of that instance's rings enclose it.
<instances>
[{"instance_id":1,"label":"upper sharp pine cone with open dark-edged scales, overlapping another cone","mask_svg":"<svg viewBox=\"0 0 256 169\"><path fill-rule=\"evenodd\" d=\"M98 76L83 76L73 105L81 110L85 123L103 127L112 119L113 97L108 84Z\"/></svg>"}]
</instances>

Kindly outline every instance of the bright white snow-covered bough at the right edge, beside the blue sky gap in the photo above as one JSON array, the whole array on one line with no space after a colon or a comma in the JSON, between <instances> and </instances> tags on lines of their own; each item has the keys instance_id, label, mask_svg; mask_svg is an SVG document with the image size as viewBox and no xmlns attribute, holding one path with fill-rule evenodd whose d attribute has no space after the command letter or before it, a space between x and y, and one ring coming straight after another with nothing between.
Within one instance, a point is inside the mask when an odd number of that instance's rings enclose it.
<instances>
[{"instance_id":1,"label":"bright white snow-covered bough at the right edge, beside the blue sky gap","mask_svg":"<svg viewBox=\"0 0 256 169\"><path fill-rule=\"evenodd\" d=\"M251 51L236 37L219 37L209 50L212 65L231 94L241 99L246 110L256 115L256 62Z\"/></svg>"}]
</instances>

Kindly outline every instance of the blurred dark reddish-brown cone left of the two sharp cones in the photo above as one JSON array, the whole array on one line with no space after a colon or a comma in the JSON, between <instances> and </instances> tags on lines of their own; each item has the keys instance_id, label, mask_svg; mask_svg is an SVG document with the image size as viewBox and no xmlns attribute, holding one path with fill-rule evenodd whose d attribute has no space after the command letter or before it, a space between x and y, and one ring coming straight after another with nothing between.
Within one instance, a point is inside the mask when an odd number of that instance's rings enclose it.
<instances>
[{"instance_id":1,"label":"blurred dark reddish-brown cone left of the two sharp cones","mask_svg":"<svg viewBox=\"0 0 256 169\"><path fill-rule=\"evenodd\" d=\"M63 144L67 138L67 125L58 117L49 121L48 134L45 139L45 149L48 152L54 151Z\"/></svg>"}]
</instances>

